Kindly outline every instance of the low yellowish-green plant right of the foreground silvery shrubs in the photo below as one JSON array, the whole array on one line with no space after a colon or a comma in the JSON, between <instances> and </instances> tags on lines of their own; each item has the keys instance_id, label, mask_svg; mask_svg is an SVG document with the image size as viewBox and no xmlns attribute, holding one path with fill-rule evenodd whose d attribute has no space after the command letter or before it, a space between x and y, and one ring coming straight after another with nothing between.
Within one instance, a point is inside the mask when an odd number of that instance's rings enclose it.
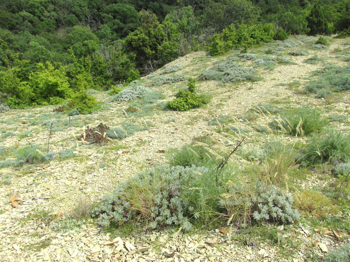
<instances>
[{"instance_id":1,"label":"low yellowish-green plant right of the foreground silvery shrubs","mask_svg":"<svg viewBox=\"0 0 350 262\"><path fill-rule=\"evenodd\" d=\"M306 214L326 217L327 214L336 214L339 208L335 206L325 195L316 190L303 190L293 194L294 208Z\"/></svg>"}]
</instances>

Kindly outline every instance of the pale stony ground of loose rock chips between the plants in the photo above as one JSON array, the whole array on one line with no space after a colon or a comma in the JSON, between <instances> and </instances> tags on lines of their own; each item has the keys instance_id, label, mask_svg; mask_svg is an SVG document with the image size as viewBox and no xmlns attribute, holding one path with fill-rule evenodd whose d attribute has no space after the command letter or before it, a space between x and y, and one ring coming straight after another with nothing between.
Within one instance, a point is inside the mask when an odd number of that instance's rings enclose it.
<instances>
[{"instance_id":1,"label":"pale stony ground of loose rock chips between the plants","mask_svg":"<svg viewBox=\"0 0 350 262\"><path fill-rule=\"evenodd\" d=\"M96 227L92 219L71 222L70 210L86 197L96 202L104 192L111 192L124 177L138 172L144 167L152 167L165 162L165 156L159 149L181 147L191 143L192 138L208 134L216 140L217 146L227 151L225 138L216 133L217 126L209 126L203 118L221 114L239 116L253 105L272 100L287 101L290 106L317 106L326 108L328 102L315 99L313 95L302 92L304 83L311 72L322 64L306 64L303 60L317 54L327 63L346 65L336 57L334 50L344 49L344 39L334 39L328 49L308 50L309 55L289 56L295 65L276 65L273 71L258 69L264 79L258 82L243 82L237 85L223 84L218 87L216 81L197 83L200 93L212 94L209 105L188 112L160 111L135 122L150 120L150 130L135 132L118 142L102 146L78 143L77 136L83 132L83 126L96 126L100 122L113 126L123 120L121 107L124 102L109 103L108 110L74 119L71 128L52 132L50 151L59 151L75 145L74 157L55 158L44 165L27 165L21 169L2 168L3 177L10 180L0 186L0 256L2 261L306 261L311 255L315 261L322 259L330 249L339 246L337 232L331 228L316 232L305 225L279 227L279 232L290 241L300 241L298 250L284 252L283 245L271 241L261 242L249 239L249 232L243 241L234 236L232 228L215 228L200 233L176 232L172 228L161 231L136 231L128 237L118 232L105 232ZM223 57L203 60L207 54L196 52L179 58L170 64L184 66L181 73L199 74ZM251 63L246 61L246 63ZM200 67L200 68L198 68ZM279 83L300 81L297 88L277 86ZM167 95L165 100L173 99L176 85L160 86L158 90ZM106 93L97 93L100 101L108 101ZM124 104L123 104L124 103ZM332 102L335 110L345 110L350 106L350 93L337 96ZM32 130L27 137L9 136L2 146L24 146L29 144L47 147L49 129L42 125L30 125L29 121L40 115L49 114L54 107L10 110L1 113L1 130L15 130L23 133ZM328 112L325 112L327 115ZM349 114L349 113L346 113ZM50 116L48 116L50 117ZM175 118L175 119L173 119ZM266 115L256 123L266 123ZM245 123L235 125L246 127ZM335 124L349 129L349 122ZM288 141L295 138L288 137ZM255 141L255 140L254 140ZM263 141L263 139L261 140ZM260 142L262 143L262 142ZM160 153L159 153L160 152ZM244 165L243 159L236 157ZM102 165L103 164L103 165ZM310 175L303 181L305 187L312 188L318 182L317 175ZM19 205L13 207L9 198L13 195ZM70 225L72 223L72 225ZM334 229L335 230L335 229ZM239 231L244 235L244 231ZM346 234L342 234L341 238ZM284 252L284 253L283 253ZM292 254L292 255L290 255Z\"/></svg>"}]
</instances>

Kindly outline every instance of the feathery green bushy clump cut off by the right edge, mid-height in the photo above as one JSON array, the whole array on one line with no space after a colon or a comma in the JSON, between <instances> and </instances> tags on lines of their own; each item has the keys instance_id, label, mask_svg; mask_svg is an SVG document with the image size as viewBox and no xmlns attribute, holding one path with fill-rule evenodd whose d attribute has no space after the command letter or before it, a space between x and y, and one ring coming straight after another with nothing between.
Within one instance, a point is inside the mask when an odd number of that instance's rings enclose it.
<instances>
[{"instance_id":1,"label":"feathery green bushy clump cut off by the right edge, mid-height","mask_svg":"<svg viewBox=\"0 0 350 262\"><path fill-rule=\"evenodd\" d=\"M350 134L344 134L333 128L328 128L322 136L315 136L309 141L304 160L320 163L334 158L336 161L350 160Z\"/></svg>"}]
</instances>

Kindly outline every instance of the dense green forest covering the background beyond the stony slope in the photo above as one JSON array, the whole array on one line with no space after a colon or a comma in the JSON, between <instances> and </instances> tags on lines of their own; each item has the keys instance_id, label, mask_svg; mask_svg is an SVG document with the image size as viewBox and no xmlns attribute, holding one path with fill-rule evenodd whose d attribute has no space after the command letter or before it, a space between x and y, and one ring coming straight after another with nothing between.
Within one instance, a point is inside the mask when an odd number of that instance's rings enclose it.
<instances>
[{"instance_id":1,"label":"dense green forest covering the background beyond the stony slope","mask_svg":"<svg viewBox=\"0 0 350 262\"><path fill-rule=\"evenodd\" d=\"M0 17L0 102L13 108L89 101L87 89L191 51L219 55L281 31L350 34L350 0L0 0Z\"/></svg>"}]
</instances>

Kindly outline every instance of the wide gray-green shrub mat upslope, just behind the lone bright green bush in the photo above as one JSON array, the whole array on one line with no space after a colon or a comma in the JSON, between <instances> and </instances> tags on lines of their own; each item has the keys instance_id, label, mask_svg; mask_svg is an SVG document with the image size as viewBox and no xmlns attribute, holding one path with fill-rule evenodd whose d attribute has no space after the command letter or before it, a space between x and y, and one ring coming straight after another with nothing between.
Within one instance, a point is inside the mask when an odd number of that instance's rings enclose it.
<instances>
[{"instance_id":1,"label":"wide gray-green shrub mat upslope, just behind the lone bright green bush","mask_svg":"<svg viewBox=\"0 0 350 262\"><path fill-rule=\"evenodd\" d=\"M237 81L258 81L253 68L243 67L232 61L225 61L212 66L209 70L204 70L199 76L199 80L221 80L224 83Z\"/></svg>"}]
</instances>

